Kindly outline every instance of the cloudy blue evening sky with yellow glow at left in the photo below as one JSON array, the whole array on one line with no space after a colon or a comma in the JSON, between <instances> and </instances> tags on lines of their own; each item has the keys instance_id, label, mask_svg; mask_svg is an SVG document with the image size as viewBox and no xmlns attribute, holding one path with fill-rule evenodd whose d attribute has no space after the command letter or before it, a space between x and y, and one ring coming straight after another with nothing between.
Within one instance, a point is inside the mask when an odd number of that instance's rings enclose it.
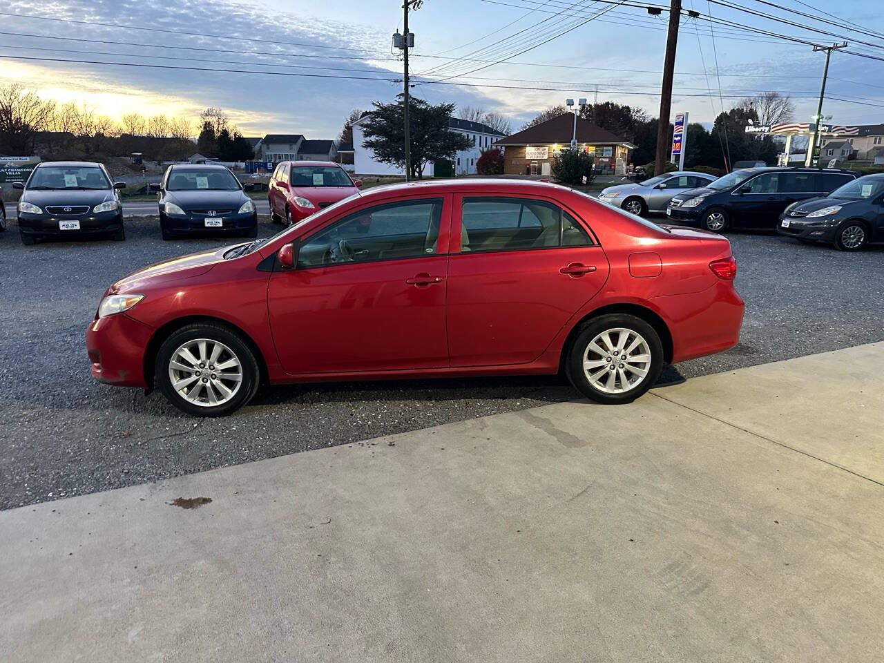
<instances>
[{"instance_id":1,"label":"cloudy blue evening sky with yellow glow at left","mask_svg":"<svg viewBox=\"0 0 884 663\"><path fill-rule=\"evenodd\" d=\"M741 27L820 44L843 38L850 43L846 50L884 58L880 0L769 2L836 23L849 21L856 29L806 19L762 0L682 0L685 11L696 10L700 17L682 19L673 113L689 111L691 122L708 125L739 97L769 90L793 97L796 121L806 122L816 112L825 54L813 52L810 44ZM216 106L247 136L303 133L332 139L350 110L390 102L401 92L402 63L391 48L393 31L402 28L401 4L7 0L0 4L0 56L6 56L0 57L0 85L19 82L59 103L86 103L112 118L132 111L195 118ZM409 19L415 33L412 94L431 103L498 112L514 129L566 97L628 103L657 117L667 12L652 16L643 7L624 5L424 0ZM710 15L731 25L711 28ZM823 114L831 115L833 124L884 122L882 74L884 60L834 52L827 95L836 98L827 98Z\"/></svg>"}]
</instances>

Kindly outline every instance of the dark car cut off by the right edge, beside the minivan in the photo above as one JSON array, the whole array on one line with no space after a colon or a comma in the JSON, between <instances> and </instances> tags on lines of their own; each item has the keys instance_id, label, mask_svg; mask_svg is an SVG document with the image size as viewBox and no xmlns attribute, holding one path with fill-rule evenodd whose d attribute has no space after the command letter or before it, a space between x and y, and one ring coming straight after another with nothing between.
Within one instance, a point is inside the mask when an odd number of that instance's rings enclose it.
<instances>
[{"instance_id":1,"label":"dark car cut off by the right edge, beside the minivan","mask_svg":"<svg viewBox=\"0 0 884 663\"><path fill-rule=\"evenodd\" d=\"M842 251L884 241L884 174L866 175L825 197L789 205L777 232L807 242L824 241Z\"/></svg>"}]
</instances>

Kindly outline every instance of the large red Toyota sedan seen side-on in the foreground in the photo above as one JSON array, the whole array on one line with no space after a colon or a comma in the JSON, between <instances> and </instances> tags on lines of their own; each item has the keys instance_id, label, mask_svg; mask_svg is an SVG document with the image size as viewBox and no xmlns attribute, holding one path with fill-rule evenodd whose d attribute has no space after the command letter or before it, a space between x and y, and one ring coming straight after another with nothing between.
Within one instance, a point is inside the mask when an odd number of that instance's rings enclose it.
<instances>
[{"instance_id":1,"label":"large red Toyota sedan seen side-on in the foreground","mask_svg":"<svg viewBox=\"0 0 884 663\"><path fill-rule=\"evenodd\" d=\"M446 180L357 194L270 240L104 293L92 375L226 415L262 382L545 374L624 403L737 342L728 240L566 187Z\"/></svg>"}]
</instances>

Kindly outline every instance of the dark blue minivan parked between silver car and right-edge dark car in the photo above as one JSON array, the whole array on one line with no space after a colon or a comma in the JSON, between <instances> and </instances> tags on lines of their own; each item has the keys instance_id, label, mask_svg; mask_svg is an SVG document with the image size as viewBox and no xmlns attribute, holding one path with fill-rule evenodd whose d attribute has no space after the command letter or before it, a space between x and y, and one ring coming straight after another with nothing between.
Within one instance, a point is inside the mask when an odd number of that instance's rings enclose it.
<instances>
[{"instance_id":1,"label":"dark blue minivan parked between silver car and right-edge dark car","mask_svg":"<svg viewBox=\"0 0 884 663\"><path fill-rule=\"evenodd\" d=\"M713 232L773 230L790 203L829 194L852 179L856 172L836 168L743 168L675 195L666 213L679 224Z\"/></svg>"}]
</instances>

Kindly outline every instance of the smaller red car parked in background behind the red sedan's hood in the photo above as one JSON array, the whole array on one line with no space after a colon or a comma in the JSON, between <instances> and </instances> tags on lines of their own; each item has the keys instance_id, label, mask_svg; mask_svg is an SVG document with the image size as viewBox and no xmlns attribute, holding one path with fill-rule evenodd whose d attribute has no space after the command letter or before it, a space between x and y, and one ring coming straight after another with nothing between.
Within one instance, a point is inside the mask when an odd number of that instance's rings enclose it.
<instances>
[{"instance_id":1,"label":"smaller red car parked in background behind the red sedan's hood","mask_svg":"<svg viewBox=\"0 0 884 663\"><path fill-rule=\"evenodd\" d=\"M359 193L362 179L350 179L331 161L284 161L267 185L275 224L292 225L329 205Z\"/></svg>"}]
</instances>

